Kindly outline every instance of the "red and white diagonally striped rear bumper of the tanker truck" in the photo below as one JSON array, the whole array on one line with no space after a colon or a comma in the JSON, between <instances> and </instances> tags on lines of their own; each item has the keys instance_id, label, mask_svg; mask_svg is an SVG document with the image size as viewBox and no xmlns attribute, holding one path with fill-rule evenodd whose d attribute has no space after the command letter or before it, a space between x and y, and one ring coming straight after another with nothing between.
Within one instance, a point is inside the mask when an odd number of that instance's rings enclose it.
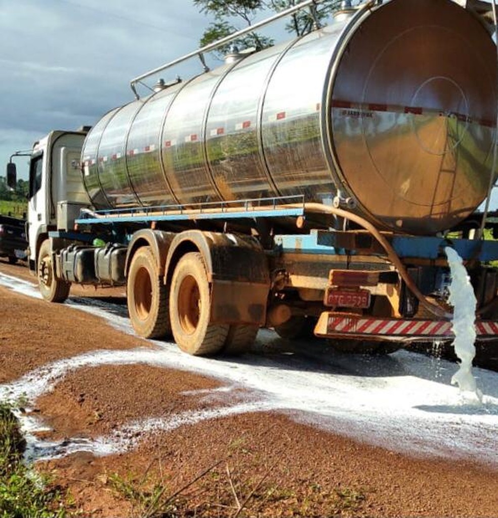
<instances>
[{"instance_id":1,"label":"red and white diagonally striped rear bumper of the tanker truck","mask_svg":"<svg viewBox=\"0 0 498 518\"><path fill-rule=\"evenodd\" d=\"M478 339L498 336L498 322L476 322ZM325 311L315 327L315 335L329 338L384 338L398 341L450 340L454 337L448 320L383 319Z\"/></svg>"}]
</instances>

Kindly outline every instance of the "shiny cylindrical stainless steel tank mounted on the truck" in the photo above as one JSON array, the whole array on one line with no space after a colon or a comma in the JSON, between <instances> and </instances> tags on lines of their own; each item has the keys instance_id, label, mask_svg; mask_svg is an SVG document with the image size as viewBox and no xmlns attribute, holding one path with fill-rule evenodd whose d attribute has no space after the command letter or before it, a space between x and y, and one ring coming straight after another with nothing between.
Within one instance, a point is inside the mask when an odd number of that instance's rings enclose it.
<instances>
[{"instance_id":1,"label":"shiny cylindrical stainless steel tank mounted on the truck","mask_svg":"<svg viewBox=\"0 0 498 518\"><path fill-rule=\"evenodd\" d=\"M108 112L82 150L96 208L303 195L434 234L492 174L496 47L450 0L392 0Z\"/></svg>"}]
</instances>

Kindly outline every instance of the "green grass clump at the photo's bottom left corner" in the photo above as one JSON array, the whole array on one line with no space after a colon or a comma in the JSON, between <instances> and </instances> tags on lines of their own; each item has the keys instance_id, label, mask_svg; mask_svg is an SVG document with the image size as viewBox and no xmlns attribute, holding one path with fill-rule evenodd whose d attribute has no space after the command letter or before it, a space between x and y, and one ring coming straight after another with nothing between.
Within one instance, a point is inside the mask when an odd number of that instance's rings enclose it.
<instances>
[{"instance_id":1,"label":"green grass clump at the photo's bottom left corner","mask_svg":"<svg viewBox=\"0 0 498 518\"><path fill-rule=\"evenodd\" d=\"M64 518L62 495L23 462L26 443L13 409L0 401L0 518Z\"/></svg>"}]
</instances>

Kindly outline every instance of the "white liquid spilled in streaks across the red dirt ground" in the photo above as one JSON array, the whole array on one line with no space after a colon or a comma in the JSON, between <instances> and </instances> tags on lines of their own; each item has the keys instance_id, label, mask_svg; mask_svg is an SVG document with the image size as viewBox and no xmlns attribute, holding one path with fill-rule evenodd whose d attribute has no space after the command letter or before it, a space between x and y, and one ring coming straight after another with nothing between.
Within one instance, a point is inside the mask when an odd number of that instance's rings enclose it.
<instances>
[{"instance_id":1,"label":"white liquid spilled in streaks across the red dirt ground","mask_svg":"<svg viewBox=\"0 0 498 518\"><path fill-rule=\"evenodd\" d=\"M0 284L3 279L0 276ZM114 327L131 332L128 319L120 316L117 308L107 310L105 305L90 304L92 301L88 300L82 305L76 299L71 301L71 306L103 316ZM174 343L160 341L151 342L154 349L99 350L28 372L15 382L1 386L0 395L12 399L25 395L34 401L53 390L68 373L82 367L162 366L225 381L229 387L225 394L215 389L222 410L144 419L128 424L121 430L121 437L111 434L94 441L73 438L66 441L60 451L89 449L105 454L136 444L154 430L167 431L172 429L170 426L186 426L235 413L279 410L297 421L391 450L472 458L498 465L495 439L498 373L475 369L483 392L482 406L479 406L451 385L458 366L445 360L435 365L433 358L407 351L398 351L389 357L340 355L318 341L297 343L293 349L283 350L282 343L275 334L261 330L255 352L236 359L189 356ZM247 394L246 400L237 405L233 405L233 398L231 401L230 390L234 387L242 387ZM133 440L126 431L131 429L135 430L135 436L131 434ZM34 450L40 447L37 456L50 455L47 453L50 448L43 444L35 440ZM56 454L53 449L52 454Z\"/></svg>"}]
</instances>

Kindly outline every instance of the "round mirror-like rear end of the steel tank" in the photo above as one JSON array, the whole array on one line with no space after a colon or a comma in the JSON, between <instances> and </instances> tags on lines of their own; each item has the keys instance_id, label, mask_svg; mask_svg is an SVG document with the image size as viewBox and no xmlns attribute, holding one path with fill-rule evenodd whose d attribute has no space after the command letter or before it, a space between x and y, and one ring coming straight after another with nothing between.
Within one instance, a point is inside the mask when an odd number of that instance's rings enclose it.
<instances>
[{"instance_id":1,"label":"round mirror-like rear end of the steel tank","mask_svg":"<svg viewBox=\"0 0 498 518\"><path fill-rule=\"evenodd\" d=\"M496 48L449 0L376 9L345 35L330 78L331 160L380 226L452 227L485 198L496 120Z\"/></svg>"}]
</instances>

